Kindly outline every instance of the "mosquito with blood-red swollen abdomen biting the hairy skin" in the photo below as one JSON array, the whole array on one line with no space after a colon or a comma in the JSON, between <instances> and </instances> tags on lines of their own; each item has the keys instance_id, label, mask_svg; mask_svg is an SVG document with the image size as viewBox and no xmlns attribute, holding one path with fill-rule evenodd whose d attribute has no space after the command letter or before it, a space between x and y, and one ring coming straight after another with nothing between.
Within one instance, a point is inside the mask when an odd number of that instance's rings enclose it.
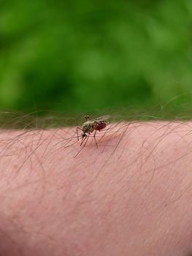
<instances>
[{"instance_id":1,"label":"mosquito with blood-red swollen abdomen biting the hairy skin","mask_svg":"<svg viewBox=\"0 0 192 256\"><path fill-rule=\"evenodd\" d=\"M86 140L88 140L89 135L91 135L92 132L94 132L93 138L96 142L96 132L101 131L101 129L104 129L107 127L107 124L110 124L110 116L101 116L98 118L95 118L91 120L89 116L85 116L85 122L82 124L82 127L77 127L77 140L79 140L79 134L78 130L80 129L82 131L81 138L82 142L80 143L80 146L82 143ZM87 140L85 144L87 143ZM96 142L96 147L98 147L97 142Z\"/></svg>"}]
</instances>

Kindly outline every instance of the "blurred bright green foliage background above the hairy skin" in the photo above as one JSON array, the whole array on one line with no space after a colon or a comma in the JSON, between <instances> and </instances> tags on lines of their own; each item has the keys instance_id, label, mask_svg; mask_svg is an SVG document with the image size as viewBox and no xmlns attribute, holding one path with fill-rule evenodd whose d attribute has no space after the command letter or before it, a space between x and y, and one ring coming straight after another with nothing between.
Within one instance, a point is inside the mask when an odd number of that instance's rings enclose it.
<instances>
[{"instance_id":1,"label":"blurred bright green foliage background above the hairy skin","mask_svg":"<svg viewBox=\"0 0 192 256\"><path fill-rule=\"evenodd\" d=\"M0 56L1 111L190 113L192 1L0 0Z\"/></svg>"}]
</instances>

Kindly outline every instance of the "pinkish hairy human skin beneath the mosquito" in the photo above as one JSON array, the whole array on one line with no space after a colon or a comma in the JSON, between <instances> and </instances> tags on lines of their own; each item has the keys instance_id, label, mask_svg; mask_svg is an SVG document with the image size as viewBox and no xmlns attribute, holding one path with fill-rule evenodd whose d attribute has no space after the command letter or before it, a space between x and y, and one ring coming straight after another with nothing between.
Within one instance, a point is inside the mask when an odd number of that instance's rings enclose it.
<instances>
[{"instance_id":1,"label":"pinkish hairy human skin beneath the mosquito","mask_svg":"<svg viewBox=\"0 0 192 256\"><path fill-rule=\"evenodd\" d=\"M0 255L192 255L192 123L74 130L1 131Z\"/></svg>"}]
</instances>

